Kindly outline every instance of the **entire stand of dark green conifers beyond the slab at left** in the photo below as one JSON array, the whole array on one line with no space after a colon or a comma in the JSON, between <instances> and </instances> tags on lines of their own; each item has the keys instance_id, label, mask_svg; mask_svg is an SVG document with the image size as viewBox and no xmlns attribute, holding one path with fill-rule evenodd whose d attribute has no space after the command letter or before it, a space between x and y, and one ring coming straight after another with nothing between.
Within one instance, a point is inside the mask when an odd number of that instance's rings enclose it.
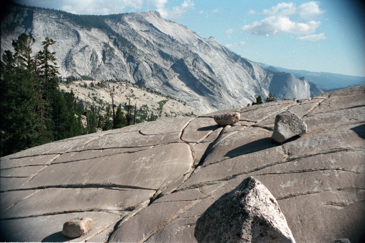
<instances>
[{"instance_id":1,"label":"entire stand of dark green conifers beyond the slab at left","mask_svg":"<svg viewBox=\"0 0 365 243\"><path fill-rule=\"evenodd\" d=\"M0 63L0 156L30 147L131 124L121 105L104 116L75 99L73 92L59 89L53 39L46 37L35 55L35 39L25 33L13 41L14 52L3 54ZM71 81L71 80L69 80ZM132 111L131 111L132 112ZM86 128L81 116L87 117ZM129 113L131 115L131 113ZM129 121L129 122L128 122Z\"/></svg>"}]
</instances>

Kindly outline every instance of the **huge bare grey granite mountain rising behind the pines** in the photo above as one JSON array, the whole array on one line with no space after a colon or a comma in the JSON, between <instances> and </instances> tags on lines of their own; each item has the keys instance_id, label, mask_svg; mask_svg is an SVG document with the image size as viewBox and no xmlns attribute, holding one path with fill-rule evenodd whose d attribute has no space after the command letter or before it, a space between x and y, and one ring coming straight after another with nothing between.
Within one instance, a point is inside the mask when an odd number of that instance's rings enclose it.
<instances>
[{"instance_id":1,"label":"huge bare grey granite mountain rising behind the pines","mask_svg":"<svg viewBox=\"0 0 365 243\"><path fill-rule=\"evenodd\" d=\"M2 54L22 32L36 39L34 51L48 36L56 41L64 77L126 80L204 112L246 106L258 95L266 97L272 80L280 78L158 12L89 16L11 5L7 13L1 22ZM282 91L293 96L282 98L309 96L303 80L290 76L280 82L295 83Z\"/></svg>"}]
</instances>

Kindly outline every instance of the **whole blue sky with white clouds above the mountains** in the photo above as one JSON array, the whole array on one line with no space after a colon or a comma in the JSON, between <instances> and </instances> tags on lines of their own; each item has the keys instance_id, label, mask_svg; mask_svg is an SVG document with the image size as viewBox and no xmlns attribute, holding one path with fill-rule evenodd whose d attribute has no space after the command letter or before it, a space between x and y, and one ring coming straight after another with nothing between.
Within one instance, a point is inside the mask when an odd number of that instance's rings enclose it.
<instances>
[{"instance_id":1,"label":"whole blue sky with white clouds above the mountains","mask_svg":"<svg viewBox=\"0 0 365 243\"><path fill-rule=\"evenodd\" d=\"M155 10L255 62L365 76L362 1L15 0L74 14Z\"/></svg>"}]
</instances>

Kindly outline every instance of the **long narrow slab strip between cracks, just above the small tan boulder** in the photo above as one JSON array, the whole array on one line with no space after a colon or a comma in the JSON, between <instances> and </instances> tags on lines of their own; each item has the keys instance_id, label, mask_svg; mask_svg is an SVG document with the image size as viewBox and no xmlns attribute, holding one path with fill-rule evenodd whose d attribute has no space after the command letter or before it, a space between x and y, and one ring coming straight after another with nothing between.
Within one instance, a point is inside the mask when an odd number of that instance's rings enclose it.
<instances>
[{"instance_id":1,"label":"long narrow slab strip between cracks, just above the small tan boulder","mask_svg":"<svg viewBox=\"0 0 365 243\"><path fill-rule=\"evenodd\" d=\"M30 190L33 191L33 190ZM18 191L6 192L7 196ZM33 192L17 201L1 214L1 219L24 218L63 212L78 212L85 209L102 211L127 211L139 205L147 205L155 190L116 190L103 188L48 188ZM3 194L2 194L3 196ZM24 193L25 197L25 193ZM42 207L38 202L44 200Z\"/></svg>"}]
</instances>

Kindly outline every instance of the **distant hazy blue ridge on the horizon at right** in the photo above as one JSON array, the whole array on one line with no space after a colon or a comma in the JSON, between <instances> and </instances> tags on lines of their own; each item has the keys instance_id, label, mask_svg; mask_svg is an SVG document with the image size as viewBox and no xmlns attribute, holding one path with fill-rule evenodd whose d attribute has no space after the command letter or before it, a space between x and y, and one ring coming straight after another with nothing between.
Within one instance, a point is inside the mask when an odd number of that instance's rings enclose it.
<instances>
[{"instance_id":1,"label":"distant hazy blue ridge on the horizon at right","mask_svg":"<svg viewBox=\"0 0 365 243\"><path fill-rule=\"evenodd\" d=\"M260 66L273 72L288 72L296 77L305 77L308 82L315 84L321 90L336 90L351 86L363 85L365 77L350 76L330 72L311 72L306 70L293 70L282 67L274 67L264 63L259 63Z\"/></svg>"}]
</instances>

